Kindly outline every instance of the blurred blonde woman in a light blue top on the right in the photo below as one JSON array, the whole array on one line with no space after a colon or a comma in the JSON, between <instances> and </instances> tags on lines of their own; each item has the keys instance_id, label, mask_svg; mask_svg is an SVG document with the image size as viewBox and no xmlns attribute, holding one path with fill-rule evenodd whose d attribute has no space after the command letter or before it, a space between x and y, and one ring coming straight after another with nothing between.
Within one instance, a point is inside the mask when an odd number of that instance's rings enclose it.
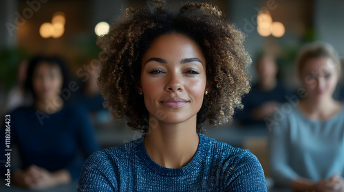
<instances>
[{"instance_id":1,"label":"blurred blonde woman in a light blue top on the right","mask_svg":"<svg viewBox=\"0 0 344 192\"><path fill-rule=\"evenodd\" d=\"M294 191L344 191L344 109L332 97L341 65L333 47L303 47L297 73L305 93L270 132L270 173Z\"/></svg>"}]
</instances>

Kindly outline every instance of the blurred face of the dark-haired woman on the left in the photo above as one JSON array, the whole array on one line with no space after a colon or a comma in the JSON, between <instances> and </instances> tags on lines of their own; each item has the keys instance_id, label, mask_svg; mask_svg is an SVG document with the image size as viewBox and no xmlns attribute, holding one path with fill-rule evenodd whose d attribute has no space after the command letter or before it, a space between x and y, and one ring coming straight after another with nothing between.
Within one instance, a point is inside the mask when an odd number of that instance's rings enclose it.
<instances>
[{"instance_id":1,"label":"blurred face of the dark-haired woman on the left","mask_svg":"<svg viewBox=\"0 0 344 192\"><path fill-rule=\"evenodd\" d=\"M32 85L39 99L58 96L63 84L61 70L57 65L42 62L34 70Z\"/></svg>"}]
</instances>

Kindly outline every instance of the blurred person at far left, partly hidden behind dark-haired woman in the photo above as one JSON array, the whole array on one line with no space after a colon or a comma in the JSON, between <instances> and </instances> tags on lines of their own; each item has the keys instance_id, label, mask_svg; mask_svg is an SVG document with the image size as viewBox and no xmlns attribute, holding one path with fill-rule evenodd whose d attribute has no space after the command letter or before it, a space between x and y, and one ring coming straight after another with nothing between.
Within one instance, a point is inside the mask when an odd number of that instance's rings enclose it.
<instances>
[{"instance_id":1,"label":"blurred person at far left, partly hidden behind dark-haired woman","mask_svg":"<svg viewBox=\"0 0 344 192\"><path fill-rule=\"evenodd\" d=\"M12 110L19 106L32 105L32 95L25 92L24 88L27 69L28 60L22 60L17 69L17 84L15 84L8 93L8 99L5 106L6 112L12 112Z\"/></svg>"}]
</instances>

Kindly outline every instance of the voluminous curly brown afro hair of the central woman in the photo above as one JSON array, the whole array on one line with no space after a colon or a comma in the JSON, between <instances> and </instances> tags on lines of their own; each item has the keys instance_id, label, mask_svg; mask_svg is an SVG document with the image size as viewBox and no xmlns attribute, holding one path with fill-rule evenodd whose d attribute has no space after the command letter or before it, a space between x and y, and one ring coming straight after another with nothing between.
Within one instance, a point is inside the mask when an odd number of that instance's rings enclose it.
<instances>
[{"instance_id":1,"label":"voluminous curly brown afro hair of the central woman","mask_svg":"<svg viewBox=\"0 0 344 192\"><path fill-rule=\"evenodd\" d=\"M141 60L155 38L177 32L195 40L206 58L206 79L211 88L197 112L197 132L232 120L241 97L250 91L247 67L250 56L244 49L244 34L230 24L215 5L188 2L177 13L163 1L155 8L127 8L109 33L97 40L101 71L100 93L115 120L127 118L133 130L147 133L149 112L138 94Z\"/></svg>"}]
</instances>

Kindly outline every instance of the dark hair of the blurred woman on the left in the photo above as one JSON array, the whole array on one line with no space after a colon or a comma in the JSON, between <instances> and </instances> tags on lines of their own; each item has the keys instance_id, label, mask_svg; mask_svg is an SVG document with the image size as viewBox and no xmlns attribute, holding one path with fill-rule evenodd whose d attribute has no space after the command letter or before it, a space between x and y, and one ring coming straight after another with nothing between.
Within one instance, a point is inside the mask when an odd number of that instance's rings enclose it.
<instances>
[{"instance_id":1,"label":"dark hair of the blurred woman on the left","mask_svg":"<svg viewBox=\"0 0 344 192\"><path fill-rule=\"evenodd\" d=\"M36 68L39 66L39 64L50 64L52 66L57 66L60 71L61 71L61 75L63 77L63 84L62 84L62 88L61 90L63 90L64 88L68 87L68 83L71 80L71 76L69 75L69 70L67 69L67 65L65 63L65 61L58 57L58 56L34 56L29 60L29 65L28 65L28 71L26 73L26 80L25 80L25 91L32 94L32 96L34 97L34 99L36 99L36 93L34 93L34 87L32 84L32 79L34 76L34 71L36 70Z\"/></svg>"}]
</instances>

